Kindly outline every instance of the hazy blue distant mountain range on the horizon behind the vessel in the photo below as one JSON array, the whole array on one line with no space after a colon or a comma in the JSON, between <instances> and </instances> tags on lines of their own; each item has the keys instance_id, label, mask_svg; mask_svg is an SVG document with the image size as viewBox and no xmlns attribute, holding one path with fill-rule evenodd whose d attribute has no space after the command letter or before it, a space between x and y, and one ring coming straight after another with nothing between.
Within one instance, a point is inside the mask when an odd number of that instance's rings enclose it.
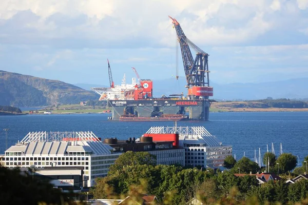
<instances>
[{"instance_id":1,"label":"hazy blue distant mountain range on the horizon behind the vessel","mask_svg":"<svg viewBox=\"0 0 308 205\"><path fill-rule=\"evenodd\" d=\"M233 83L216 84L210 82L214 87L214 99L221 100L253 100L264 99L266 97L302 99L308 98L307 85L308 78L296 78L281 81L272 81L266 83ZM75 84L81 88L90 90L91 87L108 87L102 85ZM153 80L153 95L160 97L162 95L187 93L185 88L186 78L175 78Z\"/></svg>"}]
</instances>

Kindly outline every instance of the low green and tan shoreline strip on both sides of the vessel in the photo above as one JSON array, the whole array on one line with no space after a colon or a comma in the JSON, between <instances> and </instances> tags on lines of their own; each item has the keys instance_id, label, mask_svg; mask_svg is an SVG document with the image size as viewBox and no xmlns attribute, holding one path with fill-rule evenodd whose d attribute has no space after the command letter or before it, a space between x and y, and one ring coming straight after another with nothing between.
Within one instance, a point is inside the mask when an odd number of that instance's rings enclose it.
<instances>
[{"instance_id":1,"label":"low green and tan shoreline strip on both sides of the vessel","mask_svg":"<svg viewBox=\"0 0 308 205\"><path fill-rule=\"evenodd\" d=\"M30 108L31 109L31 108ZM88 100L81 104L53 105L42 109L21 111L11 106L0 106L0 115L27 115L27 114L93 114L111 113L111 107L105 107L102 101ZM261 99L253 101L212 101L210 112L308 112L305 101L290 99ZM188 110L187 110L188 112Z\"/></svg>"}]
</instances>

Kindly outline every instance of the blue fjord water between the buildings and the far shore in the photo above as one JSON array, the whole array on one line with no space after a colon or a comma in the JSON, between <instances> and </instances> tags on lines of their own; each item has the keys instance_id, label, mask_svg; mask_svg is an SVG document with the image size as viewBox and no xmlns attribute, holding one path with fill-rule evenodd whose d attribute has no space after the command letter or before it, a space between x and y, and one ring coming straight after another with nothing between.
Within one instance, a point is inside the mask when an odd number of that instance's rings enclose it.
<instances>
[{"instance_id":1,"label":"blue fjord water between the buildings and the far shore","mask_svg":"<svg viewBox=\"0 0 308 205\"><path fill-rule=\"evenodd\" d=\"M174 122L108 121L108 114L0 116L0 154L4 154L5 132L9 128L8 147L32 131L92 131L101 138L128 139L140 137L151 126L173 126ZM308 155L308 112L227 112L210 113L209 121L180 121L178 126L204 126L223 145L232 145L237 159L254 158L255 149L266 152L274 143L276 155L283 152L297 155L302 163Z\"/></svg>"}]
</instances>

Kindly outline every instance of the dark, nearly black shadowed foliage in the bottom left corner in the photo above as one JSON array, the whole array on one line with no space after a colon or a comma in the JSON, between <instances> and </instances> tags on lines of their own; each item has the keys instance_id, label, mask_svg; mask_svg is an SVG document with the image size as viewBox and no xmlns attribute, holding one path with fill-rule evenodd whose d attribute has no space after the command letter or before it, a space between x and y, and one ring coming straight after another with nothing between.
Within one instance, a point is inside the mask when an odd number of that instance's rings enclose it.
<instances>
[{"instance_id":1,"label":"dark, nearly black shadowed foliage in the bottom left corner","mask_svg":"<svg viewBox=\"0 0 308 205\"><path fill-rule=\"evenodd\" d=\"M19 169L9 170L0 166L1 204L75 204L70 195L54 189L49 181L33 178Z\"/></svg>"}]
</instances>

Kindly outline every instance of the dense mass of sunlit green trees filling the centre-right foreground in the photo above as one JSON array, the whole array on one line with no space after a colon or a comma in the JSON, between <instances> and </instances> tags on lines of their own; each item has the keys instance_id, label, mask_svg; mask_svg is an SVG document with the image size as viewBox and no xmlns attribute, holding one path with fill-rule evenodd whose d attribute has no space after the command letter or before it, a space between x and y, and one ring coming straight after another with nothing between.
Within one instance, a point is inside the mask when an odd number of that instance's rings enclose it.
<instances>
[{"instance_id":1,"label":"dense mass of sunlit green trees filling the centre-right foreground","mask_svg":"<svg viewBox=\"0 0 308 205\"><path fill-rule=\"evenodd\" d=\"M151 157L145 152L140 154L147 159ZM192 198L203 204L308 204L308 180L291 185L285 179L270 180L260 186L256 176L236 177L232 170L215 173L212 169L156 166L153 160L147 164L140 154L122 154L108 176L96 180L91 189L94 198L117 199L130 195L138 199L142 194L149 194L156 195L161 204L187 204ZM130 158L140 161L132 163Z\"/></svg>"}]
</instances>

